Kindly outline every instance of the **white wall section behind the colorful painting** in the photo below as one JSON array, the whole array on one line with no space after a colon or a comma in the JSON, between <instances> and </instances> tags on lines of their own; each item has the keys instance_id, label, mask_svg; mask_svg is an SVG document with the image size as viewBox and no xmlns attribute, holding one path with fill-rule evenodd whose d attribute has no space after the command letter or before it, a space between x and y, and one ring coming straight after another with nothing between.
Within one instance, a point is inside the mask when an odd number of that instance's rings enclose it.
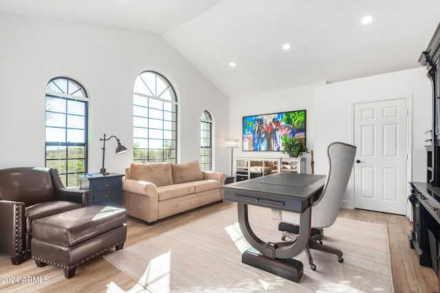
<instances>
[{"instance_id":1,"label":"white wall section behind the colorful painting","mask_svg":"<svg viewBox=\"0 0 440 293\"><path fill-rule=\"evenodd\" d=\"M243 117L259 114L270 114L285 112L291 110L306 110L306 141L307 148L314 150L315 143L315 88L325 82L318 84L308 84L305 86L296 86L278 91L270 91L261 93L259 95L250 95L240 97L239 99L230 99L230 118L229 118L229 133L231 139L239 139L240 148L234 149L234 157L248 156L248 157L269 157L281 158L289 157L282 152L243 152ZM219 143L221 143L219 141ZM224 142L223 142L224 145ZM230 150L229 150L230 156ZM311 159L310 154L303 154L306 157L306 172L311 173ZM230 158L230 157L229 157ZM229 163L230 164L230 163ZM229 171L230 173L230 171Z\"/></svg>"}]
</instances>

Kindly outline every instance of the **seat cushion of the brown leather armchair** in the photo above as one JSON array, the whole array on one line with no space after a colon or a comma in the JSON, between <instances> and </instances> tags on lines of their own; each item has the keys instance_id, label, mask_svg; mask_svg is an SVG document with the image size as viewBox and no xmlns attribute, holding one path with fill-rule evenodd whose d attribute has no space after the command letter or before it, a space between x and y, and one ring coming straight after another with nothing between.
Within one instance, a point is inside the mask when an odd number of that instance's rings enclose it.
<instances>
[{"instance_id":1,"label":"seat cushion of the brown leather armchair","mask_svg":"<svg viewBox=\"0 0 440 293\"><path fill-rule=\"evenodd\" d=\"M64 213L65 211L72 211L73 209L79 209L80 207L83 207L83 204L63 200L41 202L27 207L25 210L26 232L32 231L32 221L34 220L45 218L50 215L56 215L58 213Z\"/></svg>"}]
</instances>

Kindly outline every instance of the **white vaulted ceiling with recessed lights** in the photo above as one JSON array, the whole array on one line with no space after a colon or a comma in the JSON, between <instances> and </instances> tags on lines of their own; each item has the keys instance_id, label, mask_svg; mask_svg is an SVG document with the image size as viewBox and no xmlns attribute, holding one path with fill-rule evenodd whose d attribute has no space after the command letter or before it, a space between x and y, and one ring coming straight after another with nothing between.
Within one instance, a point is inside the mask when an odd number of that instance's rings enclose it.
<instances>
[{"instance_id":1,"label":"white vaulted ceiling with recessed lights","mask_svg":"<svg viewBox=\"0 0 440 293\"><path fill-rule=\"evenodd\" d=\"M158 34L230 98L418 67L440 22L439 0L0 0L0 11Z\"/></svg>"}]
</instances>

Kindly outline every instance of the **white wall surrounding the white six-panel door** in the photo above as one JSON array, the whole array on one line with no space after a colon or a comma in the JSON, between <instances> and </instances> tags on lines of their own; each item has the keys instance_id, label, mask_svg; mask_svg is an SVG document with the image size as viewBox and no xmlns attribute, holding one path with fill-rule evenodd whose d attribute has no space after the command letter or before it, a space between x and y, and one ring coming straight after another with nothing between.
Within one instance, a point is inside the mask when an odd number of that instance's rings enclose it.
<instances>
[{"instance_id":1,"label":"white wall surrounding the white six-panel door","mask_svg":"<svg viewBox=\"0 0 440 293\"><path fill-rule=\"evenodd\" d=\"M417 58L417 56L415 56ZM431 84L426 69L417 68L374 75L367 78L317 86L315 99L315 171L327 172L327 145L333 141L353 143L352 109L358 102L411 97L412 150L421 153L425 132L431 128ZM426 180L426 158L412 162L413 180ZM353 180L349 183L344 207L354 207Z\"/></svg>"}]
</instances>

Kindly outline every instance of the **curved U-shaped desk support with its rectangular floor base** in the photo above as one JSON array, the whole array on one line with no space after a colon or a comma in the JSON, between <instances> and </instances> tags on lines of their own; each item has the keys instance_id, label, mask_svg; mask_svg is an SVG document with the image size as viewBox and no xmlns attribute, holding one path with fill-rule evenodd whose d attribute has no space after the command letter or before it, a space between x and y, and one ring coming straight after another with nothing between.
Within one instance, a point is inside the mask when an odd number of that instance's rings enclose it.
<instances>
[{"instance_id":1,"label":"curved U-shaped desk support with its rectangular floor base","mask_svg":"<svg viewBox=\"0 0 440 293\"><path fill-rule=\"evenodd\" d=\"M292 257L303 251L309 242L311 209L300 214L300 233L296 242L263 242L250 227L248 204L238 203L238 212L241 233L254 248L243 253L242 262L298 283L303 276L303 263Z\"/></svg>"}]
</instances>

